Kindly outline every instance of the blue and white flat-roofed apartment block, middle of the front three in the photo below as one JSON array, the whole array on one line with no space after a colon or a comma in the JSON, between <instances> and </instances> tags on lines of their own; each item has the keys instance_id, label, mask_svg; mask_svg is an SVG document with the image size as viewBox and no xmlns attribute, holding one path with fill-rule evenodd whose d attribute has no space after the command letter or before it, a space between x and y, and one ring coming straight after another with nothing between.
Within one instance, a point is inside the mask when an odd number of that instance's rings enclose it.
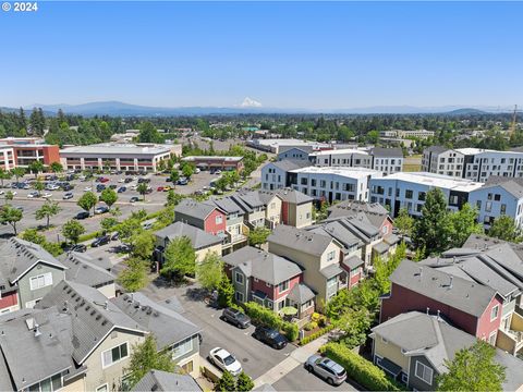
<instances>
[{"instance_id":1,"label":"blue and white flat-roofed apartment block, middle of the front three","mask_svg":"<svg viewBox=\"0 0 523 392\"><path fill-rule=\"evenodd\" d=\"M289 186L316 199L368 200L368 182L382 173L365 168L308 167L291 170Z\"/></svg>"}]
</instances>

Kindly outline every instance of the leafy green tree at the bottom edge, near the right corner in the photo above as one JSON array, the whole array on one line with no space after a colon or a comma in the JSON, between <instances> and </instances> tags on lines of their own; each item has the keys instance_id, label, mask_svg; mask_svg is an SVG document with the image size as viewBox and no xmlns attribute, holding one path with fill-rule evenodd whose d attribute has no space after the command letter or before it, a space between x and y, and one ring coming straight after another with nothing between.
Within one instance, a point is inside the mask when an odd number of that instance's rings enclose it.
<instances>
[{"instance_id":1,"label":"leafy green tree at the bottom edge, near the right corner","mask_svg":"<svg viewBox=\"0 0 523 392\"><path fill-rule=\"evenodd\" d=\"M448 371L436 379L438 391L502 391L504 366L495 360L496 348L478 340L446 360Z\"/></svg>"}]
</instances>

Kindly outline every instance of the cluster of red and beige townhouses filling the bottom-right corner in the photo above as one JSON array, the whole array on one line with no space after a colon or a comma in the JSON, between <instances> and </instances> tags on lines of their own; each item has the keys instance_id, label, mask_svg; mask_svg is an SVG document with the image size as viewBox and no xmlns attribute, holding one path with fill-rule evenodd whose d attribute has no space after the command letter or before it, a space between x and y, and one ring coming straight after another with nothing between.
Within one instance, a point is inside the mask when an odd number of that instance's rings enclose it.
<instances>
[{"instance_id":1,"label":"cluster of red and beige townhouses filling the bottom-right corner","mask_svg":"<svg viewBox=\"0 0 523 392\"><path fill-rule=\"evenodd\" d=\"M506 367L503 390L523 390L522 249L473 234L440 257L403 260L370 334L374 363L410 389L431 391L445 362L481 339Z\"/></svg>"}]
</instances>

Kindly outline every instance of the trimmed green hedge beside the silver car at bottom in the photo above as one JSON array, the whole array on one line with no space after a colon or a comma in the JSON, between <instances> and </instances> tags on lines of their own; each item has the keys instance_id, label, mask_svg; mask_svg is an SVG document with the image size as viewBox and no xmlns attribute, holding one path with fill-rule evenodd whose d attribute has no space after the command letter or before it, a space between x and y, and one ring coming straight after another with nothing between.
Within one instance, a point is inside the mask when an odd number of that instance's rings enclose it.
<instances>
[{"instance_id":1,"label":"trimmed green hedge beside the silver car at bottom","mask_svg":"<svg viewBox=\"0 0 523 392\"><path fill-rule=\"evenodd\" d=\"M404 387L388 378L384 370L342 343L328 343L321 350L346 370L346 376L368 391L402 391Z\"/></svg>"}]
</instances>

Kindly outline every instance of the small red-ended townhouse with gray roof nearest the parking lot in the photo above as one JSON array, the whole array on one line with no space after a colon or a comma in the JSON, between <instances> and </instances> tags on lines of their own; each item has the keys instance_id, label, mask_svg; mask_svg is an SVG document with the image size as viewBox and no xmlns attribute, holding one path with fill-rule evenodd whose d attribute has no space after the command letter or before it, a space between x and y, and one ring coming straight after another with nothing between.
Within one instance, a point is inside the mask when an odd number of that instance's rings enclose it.
<instances>
[{"instance_id":1,"label":"small red-ended townhouse with gray roof nearest the parking lot","mask_svg":"<svg viewBox=\"0 0 523 392\"><path fill-rule=\"evenodd\" d=\"M227 216L217 206L183 199L174 208L174 217L175 222L187 223L209 234L224 236Z\"/></svg>"}]
</instances>

